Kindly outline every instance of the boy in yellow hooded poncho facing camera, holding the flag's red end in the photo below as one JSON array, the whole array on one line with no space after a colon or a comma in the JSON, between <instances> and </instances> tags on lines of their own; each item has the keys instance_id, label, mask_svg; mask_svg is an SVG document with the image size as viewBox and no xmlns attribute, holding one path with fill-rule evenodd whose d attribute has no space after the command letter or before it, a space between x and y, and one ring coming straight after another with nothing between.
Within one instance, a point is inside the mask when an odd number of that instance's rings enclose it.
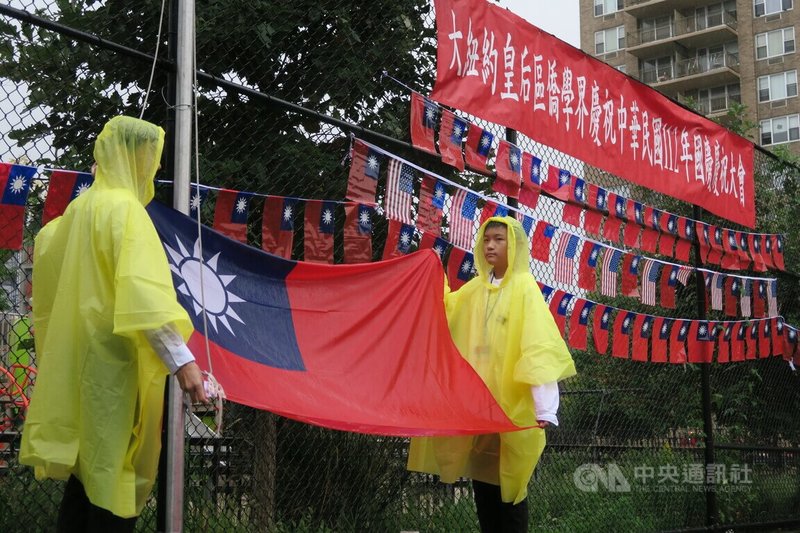
<instances>
[{"instance_id":1,"label":"boy in yellow hooded poncho facing camera, holding the flag's red end","mask_svg":"<svg viewBox=\"0 0 800 533\"><path fill-rule=\"evenodd\" d=\"M528 266L528 238L511 217L478 231L478 275L445 295L450 332L518 426L558 424L557 382L572 357ZM465 399L469 401L469 399ZM545 446L544 429L411 441L408 469L453 483L471 478L482 531L527 531L527 487Z\"/></svg>"}]
</instances>

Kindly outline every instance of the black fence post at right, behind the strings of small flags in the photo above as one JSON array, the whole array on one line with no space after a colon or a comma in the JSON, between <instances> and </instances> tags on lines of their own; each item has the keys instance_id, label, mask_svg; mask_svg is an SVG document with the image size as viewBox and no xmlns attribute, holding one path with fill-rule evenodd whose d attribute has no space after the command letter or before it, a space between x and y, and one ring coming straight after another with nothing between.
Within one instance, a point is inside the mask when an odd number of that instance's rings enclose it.
<instances>
[{"instance_id":1,"label":"black fence post at right, behind the strings of small flags","mask_svg":"<svg viewBox=\"0 0 800 533\"><path fill-rule=\"evenodd\" d=\"M703 216L703 209L693 206L694 219L699 221ZM700 231L695 231L696 241L694 242L694 266L700 268ZM697 317L700 320L706 318L706 285L701 278L699 270L695 276L695 291L697 294ZM706 526L712 531L719 524L719 508L717 507L716 479L709 479L708 468L714 468L714 428L711 416L711 363L701 363L700 367L700 386L702 389L703 402L703 432L705 433L705 447L703 460L703 489L706 493Z\"/></svg>"}]
</instances>

